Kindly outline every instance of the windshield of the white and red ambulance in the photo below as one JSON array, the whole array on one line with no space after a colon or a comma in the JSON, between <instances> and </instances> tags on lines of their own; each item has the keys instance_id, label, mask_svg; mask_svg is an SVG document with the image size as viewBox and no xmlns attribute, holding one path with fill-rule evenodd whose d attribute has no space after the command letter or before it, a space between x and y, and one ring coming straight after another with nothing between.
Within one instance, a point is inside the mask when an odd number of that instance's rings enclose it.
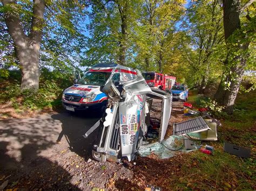
<instances>
[{"instance_id":1,"label":"windshield of the white and red ambulance","mask_svg":"<svg viewBox=\"0 0 256 191\"><path fill-rule=\"evenodd\" d=\"M92 86L102 86L109 79L110 72L87 72L85 75L78 80L78 84L92 85Z\"/></svg>"}]
</instances>

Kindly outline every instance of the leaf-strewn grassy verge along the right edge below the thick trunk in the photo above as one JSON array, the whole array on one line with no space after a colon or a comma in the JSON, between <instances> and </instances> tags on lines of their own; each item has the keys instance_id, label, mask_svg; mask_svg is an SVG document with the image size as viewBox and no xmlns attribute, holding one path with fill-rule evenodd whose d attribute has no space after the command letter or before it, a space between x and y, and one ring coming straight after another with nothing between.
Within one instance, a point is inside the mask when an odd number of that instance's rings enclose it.
<instances>
[{"instance_id":1,"label":"leaf-strewn grassy verge along the right edge below the thick trunk","mask_svg":"<svg viewBox=\"0 0 256 191\"><path fill-rule=\"evenodd\" d=\"M234 114L220 119L223 125L218 128L218 141L203 142L214 146L213 155L200 151L187 154L181 168L182 178L174 182L174 188L255 190L255 97L255 91L238 95ZM193 90L188 102L197 106L201 99L204 97ZM251 148L251 157L242 159L224 152L224 142Z\"/></svg>"}]
</instances>

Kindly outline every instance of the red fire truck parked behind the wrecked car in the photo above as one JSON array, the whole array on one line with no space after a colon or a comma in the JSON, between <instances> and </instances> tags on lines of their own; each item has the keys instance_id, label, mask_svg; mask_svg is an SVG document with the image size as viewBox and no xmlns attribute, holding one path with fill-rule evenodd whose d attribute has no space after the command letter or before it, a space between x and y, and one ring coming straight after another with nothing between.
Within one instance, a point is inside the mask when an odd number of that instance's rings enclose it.
<instances>
[{"instance_id":1,"label":"red fire truck parked behind the wrecked car","mask_svg":"<svg viewBox=\"0 0 256 191\"><path fill-rule=\"evenodd\" d=\"M156 72L144 72L142 75L150 87L163 89L165 91L170 90L176 81L176 77Z\"/></svg>"}]
</instances>

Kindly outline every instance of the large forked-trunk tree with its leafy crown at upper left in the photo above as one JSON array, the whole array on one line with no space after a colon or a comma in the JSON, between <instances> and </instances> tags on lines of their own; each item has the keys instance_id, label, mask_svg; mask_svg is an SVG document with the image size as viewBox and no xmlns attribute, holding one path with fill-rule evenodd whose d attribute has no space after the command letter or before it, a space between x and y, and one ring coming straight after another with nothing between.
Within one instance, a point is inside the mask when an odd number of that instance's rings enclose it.
<instances>
[{"instance_id":1,"label":"large forked-trunk tree with its leafy crown at upper left","mask_svg":"<svg viewBox=\"0 0 256 191\"><path fill-rule=\"evenodd\" d=\"M42 69L62 75L84 61L84 21L90 2L3 1L1 5L0 76L18 67L22 90L36 91ZM43 13L38 17L40 9Z\"/></svg>"}]
</instances>

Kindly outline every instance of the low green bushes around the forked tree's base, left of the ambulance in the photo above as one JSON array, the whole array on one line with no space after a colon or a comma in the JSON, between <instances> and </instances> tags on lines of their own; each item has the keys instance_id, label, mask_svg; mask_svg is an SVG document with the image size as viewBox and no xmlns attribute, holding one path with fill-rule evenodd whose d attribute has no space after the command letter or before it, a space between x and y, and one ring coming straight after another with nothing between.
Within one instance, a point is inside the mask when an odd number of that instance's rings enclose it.
<instances>
[{"instance_id":1,"label":"low green bushes around the forked tree's base, left of the ambulance","mask_svg":"<svg viewBox=\"0 0 256 191\"><path fill-rule=\"evenodd\" d=\"M12 80L3 80L5 86L1 88L0 103L11 102L12 106L18 110L38 110L45 107L52 107L60 104L62 92L65 88L71 86L71 75L58 74L43 70L39 84L38 92L35 94L29 89L21 92L20 81L14 80L17 73L10 72Z\"/></svg>"}]
</instances>

